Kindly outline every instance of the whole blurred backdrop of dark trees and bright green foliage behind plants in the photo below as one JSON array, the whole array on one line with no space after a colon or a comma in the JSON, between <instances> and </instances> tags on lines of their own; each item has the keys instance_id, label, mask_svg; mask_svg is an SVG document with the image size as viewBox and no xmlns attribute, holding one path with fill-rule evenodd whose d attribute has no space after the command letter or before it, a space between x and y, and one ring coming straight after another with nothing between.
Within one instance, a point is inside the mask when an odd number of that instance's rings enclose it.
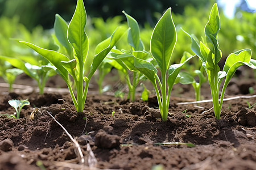
<instances>
[{"instance_id":1,"label":"whole blurred backdrop of dark trees and bright green foliage behind plants","mask_svg":"<svg viewBox=\"0 0 256 170\"><path fill-rule=\"evenodd\" d=\"M219 0L221 1L221 0ZM224 1L224 0L222 0ZM172 62L179 62L184 51L191 52L191 40L181 27L194 34L199 40L204 36L210 8L214 0L86 0L88 15L86 33L90 41L89 56L94 55L95 46L108 38L119 25L127 25L122 10L133 16L141 27L141 39L149 50L150 37L154 25L163 12L172 7L172 16L177 28L177 44ZM220 49L224 57L228 54L250 48L253 58L256 54L256 13L242 11L245 0L236 6L234 18L227 18L221 8L221 30L218 33ZM71 20L76 0L0 0L0 54L16 56L29 53L30 49L19 45L13 39L32 42L48 49L56 49L52 40L55 14L60 14L67 22ZM119 42L121 48L129 46L126 39ZM20 50L24 48L24 50ZM30 51L30 53L32 53Z\"/></svg>"}]
</instances>

